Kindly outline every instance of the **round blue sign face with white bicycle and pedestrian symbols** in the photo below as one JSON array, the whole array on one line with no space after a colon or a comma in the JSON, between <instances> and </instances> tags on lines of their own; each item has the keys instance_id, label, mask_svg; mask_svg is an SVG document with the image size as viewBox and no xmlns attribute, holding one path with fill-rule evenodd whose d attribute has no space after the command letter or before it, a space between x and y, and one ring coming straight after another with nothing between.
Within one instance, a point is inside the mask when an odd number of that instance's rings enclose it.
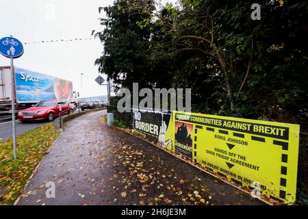
<instances>
[{"instance_id":1,"label":"round blue sign face with white bicycle and pedestrian symbols","mask_svg":"<svg viewBox=\"0 0 308 219\"><path fill-rule=\"evenodd\" d=\"M1 38L0 53L5 57L17 58L23 55L23 44L21 41L10 36Z\"/></svg>"}]
</instances>

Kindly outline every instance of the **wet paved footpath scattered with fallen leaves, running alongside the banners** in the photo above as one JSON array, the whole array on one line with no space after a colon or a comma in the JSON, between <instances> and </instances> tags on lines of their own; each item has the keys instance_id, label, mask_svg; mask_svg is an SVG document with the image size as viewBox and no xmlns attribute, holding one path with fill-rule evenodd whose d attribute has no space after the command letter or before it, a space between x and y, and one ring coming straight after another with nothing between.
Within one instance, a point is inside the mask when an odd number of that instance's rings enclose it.
<instances>
[{"instance_id":1,"label":"wet paved footpath scattered with fallen leaves, running alongside the banners","mask_svg":"<svg viewBox=\"0 0 308 219\"><path fill-rule=\"evenodd\" d=\"M66 123L17 205L262 205L248 194L101 122ZM45 185L55 183L55 198Z\"/></svg>"}]
</instances>

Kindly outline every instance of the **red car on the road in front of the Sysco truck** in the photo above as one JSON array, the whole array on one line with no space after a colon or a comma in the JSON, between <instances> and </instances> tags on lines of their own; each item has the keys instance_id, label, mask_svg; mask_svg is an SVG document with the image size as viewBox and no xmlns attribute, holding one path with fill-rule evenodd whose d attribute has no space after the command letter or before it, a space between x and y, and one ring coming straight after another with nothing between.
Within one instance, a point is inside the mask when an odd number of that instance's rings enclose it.
<instances>
[{"instance_id":1,"label":"red car on the road in front of the Sysco truck","mask_svg":"<svg viewBox=\"0 0 308 219\"><path fill-rule=\"evenodd\" d=\"M18 112L17 118L22 122L31 120L49 120L52 121L60 114L60 106L62 115L70 114L74 111L71 103L59 102L57 100L40 101L33 107Z\"/></svg>"}]
</instances>

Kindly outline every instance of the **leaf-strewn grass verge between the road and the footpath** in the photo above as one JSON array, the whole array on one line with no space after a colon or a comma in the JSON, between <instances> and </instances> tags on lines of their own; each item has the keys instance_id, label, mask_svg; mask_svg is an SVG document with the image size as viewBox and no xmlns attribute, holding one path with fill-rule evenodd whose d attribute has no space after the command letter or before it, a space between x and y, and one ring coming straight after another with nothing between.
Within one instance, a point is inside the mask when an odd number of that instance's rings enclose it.
<instances>
[{"instance_id":1,"label":"leaf-strewn grass verge between the road and the footpath","mask_svg":"<svg viewBox=\"0 0 308 219\"><path fill-rule=\"evenodd\" d=\"M12 139L0 142L0 205L12 205L27 180L60 135L54 125L45 125L17 138L17 159L12 155Z\"/></svg>"}]
</instances>

